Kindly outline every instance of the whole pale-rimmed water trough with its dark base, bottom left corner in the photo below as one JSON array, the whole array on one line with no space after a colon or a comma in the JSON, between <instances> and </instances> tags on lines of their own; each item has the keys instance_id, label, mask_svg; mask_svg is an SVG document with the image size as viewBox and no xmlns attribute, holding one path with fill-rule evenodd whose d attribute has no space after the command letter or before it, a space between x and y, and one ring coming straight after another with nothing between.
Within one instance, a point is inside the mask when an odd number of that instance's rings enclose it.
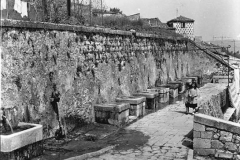
<instances>
[{"instance_id":1,"label":"whole pale-rimmed water trough with its dark base, bottom left corner","mask_svg":"<svg viewBox=\"0 0 240 160\"><path fill-rule=\"evenodd\" d=\"M18 159L18 156L33 158L42 154L42 125L23 122L18 124L18 126L26 125L32 128L9 135L0 135L0 159Z\"/></svg>"}]
</instances>

